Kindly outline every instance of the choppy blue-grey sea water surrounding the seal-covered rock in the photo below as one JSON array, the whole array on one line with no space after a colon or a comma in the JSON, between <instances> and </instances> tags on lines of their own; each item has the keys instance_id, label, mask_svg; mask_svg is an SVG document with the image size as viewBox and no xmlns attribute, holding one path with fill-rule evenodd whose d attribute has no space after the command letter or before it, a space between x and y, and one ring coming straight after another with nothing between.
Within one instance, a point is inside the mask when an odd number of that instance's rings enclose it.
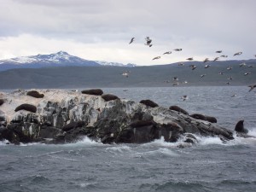
<instances>
[{"instance_id":1,"label":"choppy blue-grey sea water surrounding the seal-covered rock","mask_svg":"<svg viewBox=\"0 0 256 192\"><path fill-rule=\"evenodd\" d=\"M256 90L248 92L246 86L103 90L212 115L230 130L244 119L249 134L256 136ZM183 95L189 99L183 101ZM197 138L190 148L161 139L111 145L86 137L63 145L2 142L0 191L256 191L256 139L222 143L217 137Z\"/></svg>"}]
</instances>

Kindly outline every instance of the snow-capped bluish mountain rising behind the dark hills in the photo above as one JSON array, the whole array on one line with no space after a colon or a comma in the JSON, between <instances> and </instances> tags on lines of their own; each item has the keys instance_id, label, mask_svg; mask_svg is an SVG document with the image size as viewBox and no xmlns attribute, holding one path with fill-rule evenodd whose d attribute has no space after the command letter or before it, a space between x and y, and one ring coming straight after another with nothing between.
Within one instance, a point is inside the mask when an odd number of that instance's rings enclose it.
<instances>
[{"instance_id":1,"label":"snow-capped bluish mountain rising behind the dark hills","mask_svg":"<svg viewBox=\"0 0 256 192\"><path fill-rule=\"evenodd\" d=\"M55 54L49 55L32 55L20 56L8 60L0 61L0 71L12 68L41 68L41 67L67 67L67 66L81 66L81 67L101 67L101 66L122 66L134 67L132 64L121 64L107 61L89 61L67 54L65 51L59 51Z\"/></svg>"}]
</instances>

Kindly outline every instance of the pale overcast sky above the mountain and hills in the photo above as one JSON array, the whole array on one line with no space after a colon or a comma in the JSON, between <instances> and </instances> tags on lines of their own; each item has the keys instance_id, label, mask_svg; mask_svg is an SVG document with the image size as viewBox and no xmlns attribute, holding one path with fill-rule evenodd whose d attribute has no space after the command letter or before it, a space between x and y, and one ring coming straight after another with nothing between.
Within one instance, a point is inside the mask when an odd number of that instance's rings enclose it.
<instances>
[{"instance_id":1,"label":"pale overcast sky above the mountain and hills","mask_svg":"<svg viewBox=\"0 0 256 192\"><path fill-rule=\"evenodd\" d=\"M218 49L227 59L252 59L255 9L255 0L1 0L0 60L64 50L87 60L156 65L213 59Z\"/></svg>"}]
</instances>

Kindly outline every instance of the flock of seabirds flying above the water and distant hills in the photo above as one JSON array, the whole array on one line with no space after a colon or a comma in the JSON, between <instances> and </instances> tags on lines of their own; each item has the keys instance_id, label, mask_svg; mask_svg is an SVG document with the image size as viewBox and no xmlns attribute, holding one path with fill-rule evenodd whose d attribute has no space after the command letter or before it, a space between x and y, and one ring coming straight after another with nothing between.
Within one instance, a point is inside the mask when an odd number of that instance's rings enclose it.
<instances>
[{"instance_id":1,"label":"flock of seabirds flying above the water and distant hills","mask_svg":"<svg viewBox=\"0 0 256 192\"><path fill-rule=\"evenodd\" d=\"M129 44L132 44L134 42L134 40L135 40L135 38L131 38L131 41L130 41ZM147 45L148 47L151 47L153 45L151 38L146 37L145 41L146 41L145 45ZM173 49L173 51L182 51L182 50L183 49L181 49L181 48ZM223 51L222 50L217 50L217 51L215 51L215 53L222 54ZM163 53L163 55L170 55L170 54L172 54L172 51L166 51L165 53ZM241 55L241 54L242 54L242 52L239 51L239 52L236 52L233 56L238 56L238 55ZM254 55L254 56L256 57L256 55ZM220 58L227 58L227 57L228 57L228 55L219 55L219 56L215 57L212 61L218 61ZM161 56L159 55L159 56L155 56L152 60L159 60L160 58L161 58ZM194 61L194 58L193 57L189 57L186 60L187 61ZM211 67L210 64L207 64L208 61L211 61L211 60L209 58L206 58L206 59L203 60L203 63L205 63L205 66L204 66L205 68ZM183 66L183 65L184 65L183 62L179 62L178 63L178 66ZM195 70L197 66L194 65L194 64L193 65L191 64L191 65L189 65L189 67L191 68L191 70ZM253 67L253 66L252 65L247 66L247 64L245 62L242 62L241 64L239 64L239 67ZM231 70L231 69L232 69L231 66L227 67L227 70ZM122 75L125 76L126 78L128 78L130 73L131 73L131 71L125 71L124 73L122 73ZM223 72L219 72L218 74L219 75L224 75ZM246 72L246 73L244 73L244 76L247 76L249 74L251 74L251 72ZM206 75L207 74L201 74L201 78L204 78ZM173 86L176 86L178 84L187 84L188 83L187 81L178 82L178 78L177 77L174 77L172 80L173 80L173 84L172 84ZM228 78L228 80L233 80L233 77ZM171 81L170 80L166 80L165 82L166 83L170 83ZM230 82L228 81L228 82L226 82L226 84L230 84ZM248 87L251 88L249 90L249 91L251 91L251 90L253 90L256 87L256 84L251 84ZM183 96L182 99L183 99L183 101L185 101L185 100L188 99L188 96Z\"/></svg>"}]
</instances>

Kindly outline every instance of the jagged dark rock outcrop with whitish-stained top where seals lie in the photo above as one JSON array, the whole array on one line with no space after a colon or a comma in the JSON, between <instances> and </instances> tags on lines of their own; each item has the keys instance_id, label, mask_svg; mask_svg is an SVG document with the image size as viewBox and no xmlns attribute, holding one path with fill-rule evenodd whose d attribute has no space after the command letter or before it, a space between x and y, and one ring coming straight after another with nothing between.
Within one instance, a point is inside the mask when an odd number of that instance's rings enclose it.
<instances>
[{"instance_id":1,"label":"jagged dark rock outcrop with whitish-stained top where seals lie","mask_svg":"<svg viewBox=\"0 0 256 192\"><path fill-rule=\"evenodd\" d=\"M0 107L0 140L73 143L87 136L102 143L148 143L164 137L166 142L195 143L194 135L233 139L230 130L186 113L157 107L156 103L148 108L144 103L113 95L106 100L101 95L67 90L40 92L44 97L27 96L26 90L3 93L7 102ZM15 112L24 103L34 106L36 111Z\"/></svg>"}]
</instances>

